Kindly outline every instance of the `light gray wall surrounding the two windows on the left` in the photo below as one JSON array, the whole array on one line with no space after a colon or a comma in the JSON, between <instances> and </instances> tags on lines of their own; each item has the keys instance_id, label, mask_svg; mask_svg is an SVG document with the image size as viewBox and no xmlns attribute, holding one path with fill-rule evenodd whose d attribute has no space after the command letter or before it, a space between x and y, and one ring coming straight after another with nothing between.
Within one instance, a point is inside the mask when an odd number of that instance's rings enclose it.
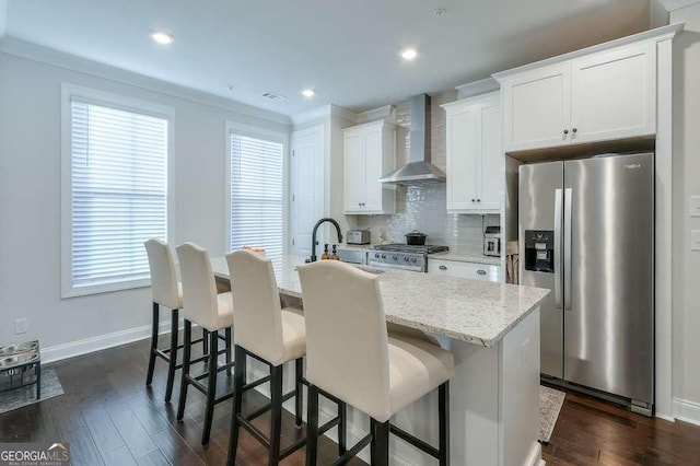
<instances>
[{"instance_id":1,"label":"light gray wall surrounding the two windows on the left","mask_svg":"<svg viewBox=\"0 0 700 466\"><path fill-rule=\"evenodd\" d=\"M288 131L226 109L235 105L224 100L212 100L220 103L213 106L191 93L154 92L121 79L172 85L98 68L106 78L0 53L0 342L38 338L47 348L150 323L150 288L60 299L61 82L174 108L174 238L197 242L214 256L225 247L225 121ZM19 317L28 318L26 335L14 335Z\"/></svg>"}]
</instances>

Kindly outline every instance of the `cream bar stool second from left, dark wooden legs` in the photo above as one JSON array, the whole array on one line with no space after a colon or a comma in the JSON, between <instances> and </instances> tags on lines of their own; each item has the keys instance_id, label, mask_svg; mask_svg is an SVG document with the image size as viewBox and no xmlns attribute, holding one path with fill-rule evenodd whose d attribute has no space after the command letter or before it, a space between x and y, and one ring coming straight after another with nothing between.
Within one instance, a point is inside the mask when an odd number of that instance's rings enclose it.
<instances>
[{"instance_id":1,"label":"cream bar stool second from left, dark wooden legs","mask_svg":"<svg viewBox=\"0 0 700 466\"><path fill-rule=\"evenodd\" d=\"M183 278L183 304L185 311L185 338L183 351L183 374L179 388L179 403L177 405L177 420L185 416L187 401L187 387L194 386L207 396L205 415L205 430L201 443L209 443L211 421L213 419L214 405L233 396L233 392L217 397L217 374L225 370L231 373L231 327L233 327L233 302L231 292L217 294L214 275L207 249L194 243L184 243L177 246L179 270ZM209 354L191 360L191 333L192 323L209 331ZM226 349L219 351L219 330L225 329ZM218 357L226 354L226 363L219 366ZM207 373L192 377L189 374L190 365L195 362L207 361ZM199 382L207 378L207 385Z\"/></svg>"}]
</instances>

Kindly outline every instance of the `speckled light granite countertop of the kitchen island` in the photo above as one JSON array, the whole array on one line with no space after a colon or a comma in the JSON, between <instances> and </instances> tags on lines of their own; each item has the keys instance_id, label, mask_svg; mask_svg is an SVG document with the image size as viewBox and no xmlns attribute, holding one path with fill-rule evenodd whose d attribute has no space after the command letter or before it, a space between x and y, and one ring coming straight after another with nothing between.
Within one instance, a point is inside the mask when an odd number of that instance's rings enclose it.
<instances>
[{"instance_id":1,"label":"speckled light granite countertop of the kitchen island","mask_svg":"<svg viewBox=\"0 0 700 466\"><path fill-rule=\"evenodd\" d=\"M302 296L296 267L304 259L283 256L273 260L280 293ZM217 277L229 278L223 257L212 258L211 266ZM377 277L388 322L487 348L498 343L549 294L540 288L404 270L383 269Z\"/></svg>"}]
</instances>

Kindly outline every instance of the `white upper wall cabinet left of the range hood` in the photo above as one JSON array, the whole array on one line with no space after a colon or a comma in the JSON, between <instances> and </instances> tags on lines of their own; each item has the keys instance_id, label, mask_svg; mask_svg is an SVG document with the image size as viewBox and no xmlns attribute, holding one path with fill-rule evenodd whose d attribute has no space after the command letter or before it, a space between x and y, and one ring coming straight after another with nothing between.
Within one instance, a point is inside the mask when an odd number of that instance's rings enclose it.
<instances>
[{"instance_id":1,"label":"white upper wall cabinet left of the range hood","mask_svg":"<svg viewBox=\"0 0 700 466\"><path fill-rule=\"evenodd\" d=\"M384 120L343 130L345 213L394 213L394 187L380 183L394 170L394 140L395 126Z\"/></svg>"}]
</instances>

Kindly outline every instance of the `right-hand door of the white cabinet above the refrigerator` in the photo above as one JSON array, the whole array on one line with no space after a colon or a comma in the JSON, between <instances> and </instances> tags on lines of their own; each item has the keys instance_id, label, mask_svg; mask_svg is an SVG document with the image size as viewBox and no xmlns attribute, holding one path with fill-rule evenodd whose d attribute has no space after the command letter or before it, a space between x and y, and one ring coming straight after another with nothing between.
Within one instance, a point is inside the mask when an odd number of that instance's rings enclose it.
<instances>
[{"instance_id":1,"label":"right-hand door of the white cabinet above the refrigerator","mask_svg":"<svg viewBox=\"0 0 700 466\"><path fill-rule=\"evenodd\" d=\"M656 132L656 54L639 44L573 60L572 142Z\"/></svg>"}]
</instances>

